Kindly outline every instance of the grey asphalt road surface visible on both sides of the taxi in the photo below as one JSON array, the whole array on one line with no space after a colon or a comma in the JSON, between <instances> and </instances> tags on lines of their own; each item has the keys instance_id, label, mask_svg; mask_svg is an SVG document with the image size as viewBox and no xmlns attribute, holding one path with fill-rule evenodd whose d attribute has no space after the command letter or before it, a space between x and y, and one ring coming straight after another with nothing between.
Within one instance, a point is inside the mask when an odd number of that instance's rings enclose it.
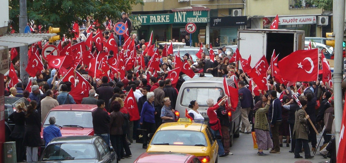
<instances>
[{"instance_id":1,"label":"grey asphalt road surface visible on both sides of the taxi","mask_svg":"<svg viewBox=\"0 0 346 163\"><path fill-rule=\"evenodd\" d=\"M134 141L134 143L130 145L132 157L125 158L124 160L121 160L119 163L133 163L140 154L146 151L142 148L142 144L138 144L135 142L136 141ZM294 163L295 161L300 160L294 159L294 154L288 152L291 149L291 147L286 147L285 144L284 147L281 147L280 154L270 154L269 151L264 151L264 153L268 154L267 156L258 156L258 151L253 148L251 134L240 134L239 138L234 139L233 144L233 147L230 148L230 151L233 153L233 155L219 157L219 163ZM312 152L311 155L313 155ZM304 153L301 153L301 156L304 156ZM313 163L325 163L329 160L329 158L324 159L317 152L315 158L309 161Z\"/></svg>"}]
</instances>

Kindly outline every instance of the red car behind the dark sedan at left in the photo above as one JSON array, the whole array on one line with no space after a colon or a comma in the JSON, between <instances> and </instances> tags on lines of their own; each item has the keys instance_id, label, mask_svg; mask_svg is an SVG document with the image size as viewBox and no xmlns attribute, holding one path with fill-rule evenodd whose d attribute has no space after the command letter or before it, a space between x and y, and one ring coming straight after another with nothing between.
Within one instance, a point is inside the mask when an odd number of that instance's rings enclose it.
<instances>
[{"instance_id":1,"label":"red car behind the dark sedan at left","mask_svg":"<svg viewBox=\"0 0 346 163\"><path fill-rule=\"evenodd\" d=\"M55 117L55 125L60 127L62 136L94 135L91 112L97 105L67 104L54 107L42 122L43 129L49 126L49 117ZM44 144L43 144L44 146Z\"/></svg>"}]
</instances>

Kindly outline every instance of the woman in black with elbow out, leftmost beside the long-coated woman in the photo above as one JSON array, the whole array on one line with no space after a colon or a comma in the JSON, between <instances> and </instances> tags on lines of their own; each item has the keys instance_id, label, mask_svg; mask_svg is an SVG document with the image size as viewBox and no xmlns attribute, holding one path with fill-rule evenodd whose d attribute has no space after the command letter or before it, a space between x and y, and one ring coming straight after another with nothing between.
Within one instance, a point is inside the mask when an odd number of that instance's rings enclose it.
<instances>
[{"instance_id":1,"label":"woman in black with elbow out, leftmost beside the long-coated woman","mask_svg":"<svg viewBox=\"0 0 346 163\"><path fill-rule=\"evenodd\" d=\"M23 138L25 134L25 103L19 102L16 106L16 111L13 112L8 118L15 123L15 128L11 132L10 137L16 141L17 161L22 162L24 160L24 146Z\"/></svg>"}]
</instances>

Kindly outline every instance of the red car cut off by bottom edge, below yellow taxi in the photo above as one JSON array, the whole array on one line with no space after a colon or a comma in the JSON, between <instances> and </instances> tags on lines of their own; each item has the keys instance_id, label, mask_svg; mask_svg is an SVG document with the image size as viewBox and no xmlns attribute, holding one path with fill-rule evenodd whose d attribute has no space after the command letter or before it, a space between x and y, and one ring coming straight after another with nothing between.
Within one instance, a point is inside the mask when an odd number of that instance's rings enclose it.
<instances>
[{"instance_id":1,"label":"red car cut off by bottom edge, below yellow taxi","mask_svg":"<svg viewBox=\"0 0 346 163\"><path fill-rule=\"evenodd\" d=\"M201 163L191 154L174 152L146 152L138 156L134 163Z\"/></svg>"}]
</instances>

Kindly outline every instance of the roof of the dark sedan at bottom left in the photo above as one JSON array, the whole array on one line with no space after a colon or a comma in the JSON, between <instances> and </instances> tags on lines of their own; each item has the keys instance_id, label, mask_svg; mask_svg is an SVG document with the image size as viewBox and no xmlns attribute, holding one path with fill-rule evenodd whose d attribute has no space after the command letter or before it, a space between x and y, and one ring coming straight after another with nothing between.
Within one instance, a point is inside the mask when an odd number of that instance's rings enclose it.
<instances>
[{"instance_id":1,"label":"roof of the dark sedan at bottom left","mask_svg":"<svg viewBox=\"0 0 346 163\"><path fill-rule=\"evenodd\" d=\"M62 136L54 138L49 144L53 143L93 143L98 136Z\"/></svg>"}]
</instances>

